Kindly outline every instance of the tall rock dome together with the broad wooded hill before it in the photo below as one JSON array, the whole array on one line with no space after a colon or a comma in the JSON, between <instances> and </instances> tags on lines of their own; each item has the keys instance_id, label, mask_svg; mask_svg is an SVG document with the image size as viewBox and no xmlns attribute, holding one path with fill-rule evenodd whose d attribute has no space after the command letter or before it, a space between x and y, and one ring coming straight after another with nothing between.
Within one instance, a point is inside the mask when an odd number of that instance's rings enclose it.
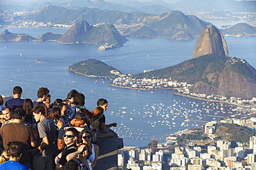
<instances>
[{"instance_id":1,"label":"tall rock dome together with the broad wooded hill before it","mask_svg":"<svg viewBox=\"0 0 256 170\"><path fill-rule=\"evenodd\" d=\"M134 74L135 78L172 78L192 84L190 92L206 95L253 98L256 96L256 70L244 59L228 56L223 35L206 26L194 47L193 59L178 65Z\"/></svg>"}]
</instances>

